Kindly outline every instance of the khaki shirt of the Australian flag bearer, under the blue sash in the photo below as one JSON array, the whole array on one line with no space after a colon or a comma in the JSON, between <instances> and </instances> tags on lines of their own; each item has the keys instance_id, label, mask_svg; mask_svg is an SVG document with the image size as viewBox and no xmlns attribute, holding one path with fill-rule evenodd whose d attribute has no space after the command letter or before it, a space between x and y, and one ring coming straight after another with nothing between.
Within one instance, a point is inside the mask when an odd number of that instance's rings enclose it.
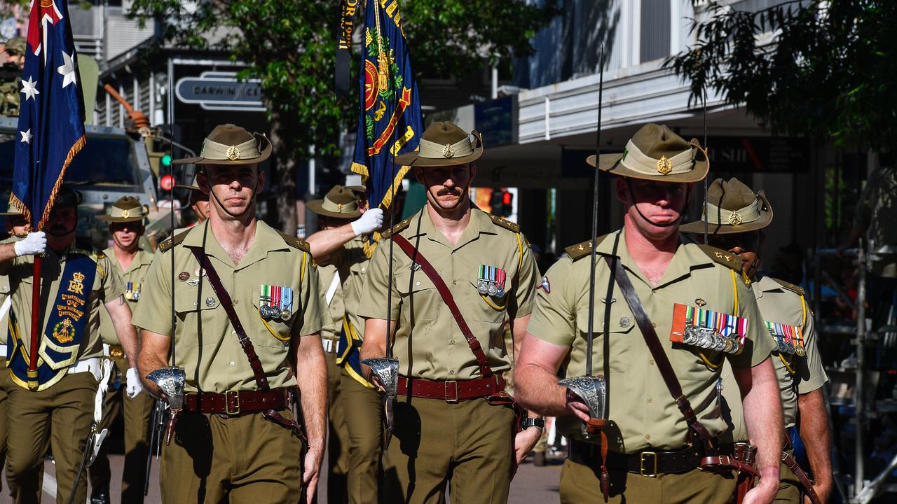
<instances>
[{"instance_id":1,"label":"khaki shirt of the Australian flag bearer, under the blue sash","mask_svg":"<svg viewBox=\"0 0 897 504\"><path fill-rule=\"evenodd\" d=\"M109 257L101 252L93 252L82 248L76 248L74 244L65 249L61 255L52 249L47 249L47 256L40 261L41 296L48 303L41 307L43 326L46 331L50 315L55 313L53 307L59 294L62 274L65 271L65 259L71 253L84 254L96 260L97 273L93 276L91 296L88 300L90 309L85 310L88 318L86 334L78 350L78 360L100 357L103 354L103 345L100 341L100 311L106 311L103 306L109 301L114 301L125 291L121 276L112 267ZM15 315L17 329L22 335L22 343L25 351L31 351L31 289L33 284L34 256L15 257L0 265L0 274L9 275L10 296L13 299L12 313ZM67 285L65 286L67 288Z\"/></svg>"}]
</instances>

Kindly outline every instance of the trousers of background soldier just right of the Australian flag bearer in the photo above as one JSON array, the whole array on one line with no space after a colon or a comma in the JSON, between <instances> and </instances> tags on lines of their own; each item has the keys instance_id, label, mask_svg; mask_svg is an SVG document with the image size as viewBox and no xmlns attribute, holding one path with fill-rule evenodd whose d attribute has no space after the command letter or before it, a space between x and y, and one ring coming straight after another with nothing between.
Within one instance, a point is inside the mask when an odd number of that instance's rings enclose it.
<instances>
[{"instance_id":1,"label":"trousers of background soldier just right of the Australian flag bearer","mask_svg":"<svg viewBox=\"0 0 897 504\"><path fill-rule=\"evenodd\" d=\"M111 429L118 413L125 414L125 467L121 477L121 501L141 503L144 501L144 478L146 477L146 454L149 449L149 428L152 396L137 395L134 399L127 396L126 372L129 367L127 359L116 359L112 379L109 380L109 391L103 398L103 420L100 429ZM121 387L113 387L116 376ZM109 438L103 442L100 453L93 461L88 473L91 487L109 487L112 473L109 470Z\"/></svg>"}]
</instances>

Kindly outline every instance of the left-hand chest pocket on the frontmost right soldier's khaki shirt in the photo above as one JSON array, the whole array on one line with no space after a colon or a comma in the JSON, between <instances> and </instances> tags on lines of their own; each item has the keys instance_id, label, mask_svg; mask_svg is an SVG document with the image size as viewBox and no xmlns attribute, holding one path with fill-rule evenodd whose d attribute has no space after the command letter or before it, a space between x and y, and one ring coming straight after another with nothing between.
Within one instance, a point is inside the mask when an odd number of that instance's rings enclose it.
<instances>
[{"instance_id":1,"label":"left-hand chest pocket on the frontmost right soldier's khaki shirt","mask_svg":"<svg viewBox=\"0 0 897 504\"><path fill-rule=\"evenodd\" d=\"M592 322L592 365L593 372L601 373L605 361L605 309L600 300L596 300L595 319ZM576 326L579 336L582 338L583 350L588 345L588 310L582 310L577 314ZM632 360L645 358L635 354L632 346L632 338L640 338L638 332L632 330L635 326L635 317L628 308L612 303L610 308L610 323L606 337L609 340L609 362L612 373L625 373L632 367Z\"/></svg>"}]
</instances>

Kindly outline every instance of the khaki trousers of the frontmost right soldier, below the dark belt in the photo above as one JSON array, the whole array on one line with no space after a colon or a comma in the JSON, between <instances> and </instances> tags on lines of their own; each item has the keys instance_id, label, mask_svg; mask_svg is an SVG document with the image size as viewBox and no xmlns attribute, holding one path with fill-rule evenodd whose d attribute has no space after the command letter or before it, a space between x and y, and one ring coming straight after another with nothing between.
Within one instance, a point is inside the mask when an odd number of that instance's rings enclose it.
<instances>
[{"instance_id":1,"label":"khaki trousers of the frontmost right soldier, below the dark belt","mask_svg":"<svg viewBox=\"0 0 897 504\"><path fill-rule=\"evenodd\" d=\"M736 480L731 474L712 474L694 469L684 474L658 474L655 477L611 471L608 502L656 504L727 504L735 493ZM564 460L561 470L562 504L604 502L598 470Z\"/></svg>"}]
</instances>

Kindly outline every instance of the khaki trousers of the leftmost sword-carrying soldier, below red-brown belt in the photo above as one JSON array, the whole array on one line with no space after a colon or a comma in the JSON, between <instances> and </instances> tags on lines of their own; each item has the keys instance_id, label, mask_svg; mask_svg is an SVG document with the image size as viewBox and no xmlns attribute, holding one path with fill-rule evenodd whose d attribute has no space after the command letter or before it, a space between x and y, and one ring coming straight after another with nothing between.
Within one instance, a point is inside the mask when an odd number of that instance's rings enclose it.
<instances>
[{"instance_id":1,"label":"khaki trousers of the leftmost sword-carrying soldier, below red-brown belt","mask_svg":"<svg viewBox=\"0 0 897 504\"><path fill-rule=\"evenodd\" d=\"M281 413L293 418L289 410ZM296 504L301 452L292 430L262 413L181 413L171 444L162 447L162 502Z\"/></svg>"}]
</instances>

